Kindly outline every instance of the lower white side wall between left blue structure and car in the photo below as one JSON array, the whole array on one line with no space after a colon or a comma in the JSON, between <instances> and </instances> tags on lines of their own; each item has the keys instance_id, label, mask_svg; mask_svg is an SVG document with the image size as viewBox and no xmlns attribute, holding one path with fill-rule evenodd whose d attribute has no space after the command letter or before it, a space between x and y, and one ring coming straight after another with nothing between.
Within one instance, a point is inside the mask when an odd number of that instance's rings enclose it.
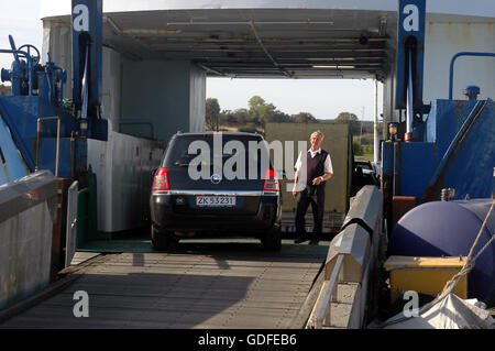
<instances>
[{"instance_id":1,"label":"lower white side wall between left blue structure and car","mask_svg":"<svg viewBox=\"0 0 495 351\"><path fill-rule=\"evenodd\" d=\"M98 230L118 232L145 224L151 172L163 149L156 142L109 132L108 141L88 140L88 166L97 175Z\"/></svg>"}]
</instances>

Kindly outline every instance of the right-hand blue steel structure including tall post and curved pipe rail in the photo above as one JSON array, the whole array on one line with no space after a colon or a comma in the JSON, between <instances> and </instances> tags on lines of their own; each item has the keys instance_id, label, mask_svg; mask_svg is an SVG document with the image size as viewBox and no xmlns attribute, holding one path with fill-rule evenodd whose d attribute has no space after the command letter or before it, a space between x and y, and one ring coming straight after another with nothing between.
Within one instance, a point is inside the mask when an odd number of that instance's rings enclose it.
<instances>
[{"instance_id":1,"label":"right-hand blue steel structure including tall post and curved pipe rail","mask_svg":"<svg viewBox=\"0 0 495 351\"><path fill-rule=\"evenodd\" d=\"M493 100L477 101L480 88L465 89L469 100L435 100L426 119L422 106L425 0L399 0L397 22L396 109L406 108L409 70L413 72L414 121L411 143L385 142L382 147L384 190L414 196L420 202L440 198L443 187L455 198L491 197L495 166L495 110ZM408 53L413 53L409 66ZM461 56L495 56L462 52L450 63L450 97L453 64ZM404 140L404 135L398 136ZM388 202L391 200L388 199Z\"/></svg>"}]
</instances>

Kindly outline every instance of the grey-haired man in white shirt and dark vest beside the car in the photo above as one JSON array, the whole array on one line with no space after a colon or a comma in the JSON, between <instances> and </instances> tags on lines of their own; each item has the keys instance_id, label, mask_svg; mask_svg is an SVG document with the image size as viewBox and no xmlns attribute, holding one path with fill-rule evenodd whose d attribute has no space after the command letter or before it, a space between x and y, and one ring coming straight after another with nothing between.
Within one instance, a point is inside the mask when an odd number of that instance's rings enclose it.
<instances>
[{"instance_id":1,"label":"grey-haired man in white shirt and dark vest beside the car","mask_svg":"<svg viewBox=\"0 0 495 351\"><path fill-rule=\"evenodd\" d=\"M299 153L296 161L296 177L294 182L293 196L297 198L296 207L296 234L295 243L308 240L305 229L305 216L309 204L311 204L315 226L312 229L311 244L318 243L323 226L324 213L324 182L333 175L330 154L321 149L323 133L314 132L309 141L311 147L305 154Z\"/></svg>"}]
</instances>

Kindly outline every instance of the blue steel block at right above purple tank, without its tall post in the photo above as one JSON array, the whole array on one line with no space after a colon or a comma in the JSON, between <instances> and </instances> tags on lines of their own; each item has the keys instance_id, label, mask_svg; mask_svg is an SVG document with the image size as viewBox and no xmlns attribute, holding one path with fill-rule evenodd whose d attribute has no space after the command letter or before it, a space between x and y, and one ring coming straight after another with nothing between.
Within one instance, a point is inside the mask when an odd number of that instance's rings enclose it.
<instances>
[{"instance_id":1,"label":"blue steel block at right above purple tank, without its tall post","mask_svg":"<svg viewBox=\"0 0 495 351\"><path fill-rule=\"evenodd\" d=\"M494 101L436 100L426 120L421 142L382 147L383 173L399 164L394 195L414 196L420 202L440 198L441 188L454 188L455 199L491 197L495 166Z\"/></svg>"}]
</instances>

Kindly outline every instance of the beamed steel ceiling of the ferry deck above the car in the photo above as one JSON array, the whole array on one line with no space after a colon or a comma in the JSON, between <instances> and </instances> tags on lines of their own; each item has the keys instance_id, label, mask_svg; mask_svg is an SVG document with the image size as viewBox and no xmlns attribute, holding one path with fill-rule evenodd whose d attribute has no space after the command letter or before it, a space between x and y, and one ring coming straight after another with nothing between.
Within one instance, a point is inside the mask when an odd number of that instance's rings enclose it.
<instances>
[{"instance_id":1,"label":"beamed steel ceiling of the ferry deck above the car","mask_svg":"<svg viewBox=\"0 0 495 351\"><path fill-rule=\"evenodd\" d=\"M393 69L396 19L332 9L106 12L103 45L133 61L191 61L209 77L382 79Z\"/></svg>"}]
</instances>

